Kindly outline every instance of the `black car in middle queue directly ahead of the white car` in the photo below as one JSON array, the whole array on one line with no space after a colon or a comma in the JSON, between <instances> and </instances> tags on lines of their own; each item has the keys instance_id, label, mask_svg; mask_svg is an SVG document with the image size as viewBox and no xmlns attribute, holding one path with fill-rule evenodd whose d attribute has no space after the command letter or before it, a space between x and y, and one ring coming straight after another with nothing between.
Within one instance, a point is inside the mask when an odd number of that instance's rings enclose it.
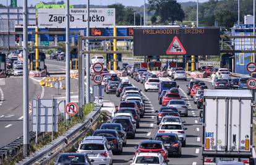
<instances>
[{"instance_id":1,"label":"black car in middle queue directly ahead of the white car","mask_svg":"<svg viewBox=\"0 0 256 165\"><path fill-rule=\"evenodd\" d=\"M158 111L155 111L155 112L158 112L158 114L156 114L156 124L160 124L161 120L166 115L179 116L179 112L177 111L177 108L174 108L174 107L163 106Z\"/></svg>"}]
</instances>

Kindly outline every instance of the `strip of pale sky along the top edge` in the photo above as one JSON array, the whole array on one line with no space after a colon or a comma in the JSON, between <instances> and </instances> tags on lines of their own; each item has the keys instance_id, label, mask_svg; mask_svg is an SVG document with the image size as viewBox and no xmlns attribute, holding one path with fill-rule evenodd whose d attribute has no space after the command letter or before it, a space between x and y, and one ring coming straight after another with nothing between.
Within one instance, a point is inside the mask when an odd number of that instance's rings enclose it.
<instances>
[{"instance_id":1,"label":"strip of pale sky along the top edge","mask_svg":"<svg viewBox=\"0 0 256 165\"><path fill-rule=\"evenodd\" d=\"M10 2L10 0L8 0ZM28 6L30 4L35 5L36 3L43 1L43 2L51 2L52 0L28 0ZM56 0L58 1L58 0ZM65 2L66 0L64 0ZM87 0L70 0L70 4L86 4ZM187 1L197 1L197 0L177 0L177 2L187 2ZM199 2L205 2L208 0L199 0ZM0 0L1 3L6 4L6 0ZM22 6L22 0L17 0L18 5ZM95 4L95 5L108 5L108 4L114 4L115 2L121 3L124 6L142 6L144 1L143 0L91 0L90 4ZM147 2L147 0L146 0Z\"/></svg>"}]
</instances>

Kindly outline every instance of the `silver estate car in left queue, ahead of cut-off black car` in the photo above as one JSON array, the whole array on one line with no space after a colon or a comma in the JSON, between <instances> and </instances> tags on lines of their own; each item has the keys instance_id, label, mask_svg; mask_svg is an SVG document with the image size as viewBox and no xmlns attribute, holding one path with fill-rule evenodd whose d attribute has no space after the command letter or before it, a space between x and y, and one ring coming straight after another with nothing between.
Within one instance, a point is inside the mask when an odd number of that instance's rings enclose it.
<instances>
[{"instance_id":1,"label":"silver estate car in left queue, ahead of cut-off black car","mask_svg":"<svg viewBox=\"0 0 256 165\"><path fill-rule=\"evenodd\" d=\"M105 137L85 137L77 148L77 153L87 154L93 159L93 165L113 164L113 153Z\"/></svg>"}]
</instances>

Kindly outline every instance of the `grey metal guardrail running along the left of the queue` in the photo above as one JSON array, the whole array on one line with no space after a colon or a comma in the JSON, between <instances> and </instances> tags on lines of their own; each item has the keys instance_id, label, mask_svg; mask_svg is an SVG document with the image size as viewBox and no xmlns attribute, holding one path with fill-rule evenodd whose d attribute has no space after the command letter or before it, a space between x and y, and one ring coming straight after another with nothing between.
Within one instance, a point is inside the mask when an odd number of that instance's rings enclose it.
<instances>
[{"instance_id":1,"label":"grey metal guardrail running along the left of the queue","mask_svg":"<svg viewBox=\"0 0 256 165\"><path fill-rule=\"evenodd\" d=\"M87 119L83 123L75 125L72 129L66 132L64 135L56 138L50 145L44 146L40 151L36 151L29 157L23 159L17 164L47 164L53 160L59 153L69 145L73 145L77 139L85 135L88 132L88 128L91 127L98 117L100 117L101 106L97 106L88 114Z\"/></svg>"}]
</instances>

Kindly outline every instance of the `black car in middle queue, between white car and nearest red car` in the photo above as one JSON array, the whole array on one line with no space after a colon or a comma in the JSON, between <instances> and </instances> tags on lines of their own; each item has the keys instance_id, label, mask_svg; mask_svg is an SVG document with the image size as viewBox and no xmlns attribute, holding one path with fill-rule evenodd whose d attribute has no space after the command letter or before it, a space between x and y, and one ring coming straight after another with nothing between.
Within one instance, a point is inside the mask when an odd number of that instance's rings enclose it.
<instances>
[{"instance_id":1,"label":"black car in middle queue, between white car and nearest red car","mask_svg":"<svg viewBox=\"0 0 256 165\"><path fill-rule=\"evenodd\" d=\"M181 157L181 140L176 133L156 133L153 140L160 140L163 142L164 148L168 151L168 156L177 154Z\"/></svg>"}]
</instances>

